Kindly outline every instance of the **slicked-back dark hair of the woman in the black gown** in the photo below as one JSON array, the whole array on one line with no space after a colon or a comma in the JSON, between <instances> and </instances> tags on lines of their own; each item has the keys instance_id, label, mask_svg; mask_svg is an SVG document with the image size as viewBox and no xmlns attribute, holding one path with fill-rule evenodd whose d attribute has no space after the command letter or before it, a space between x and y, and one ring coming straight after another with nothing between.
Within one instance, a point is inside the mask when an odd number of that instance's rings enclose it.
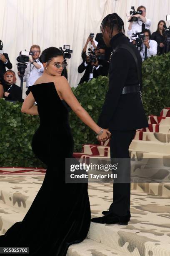
<instances>
[{"instance_id":1,"label":"slicked-back dark hair of the woman in the black gown","mask_svg":"<svg viewBox=\"0 0 170 256\"><path fill-rule=\"evenodd\" d=\"M56 47L49 47L44 51L42 51L42 54L39 59L41 63L43 63L43 62L49 62L52 60L52 58L55 58L57 56L63 56L62 51Z\"/></svg>"}]
</instances>

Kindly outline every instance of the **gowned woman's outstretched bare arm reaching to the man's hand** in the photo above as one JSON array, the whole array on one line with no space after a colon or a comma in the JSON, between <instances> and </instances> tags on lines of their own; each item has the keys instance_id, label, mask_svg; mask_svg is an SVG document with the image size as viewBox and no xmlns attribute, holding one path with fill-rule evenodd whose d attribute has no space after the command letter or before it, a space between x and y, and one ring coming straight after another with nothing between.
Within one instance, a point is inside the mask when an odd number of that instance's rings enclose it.
<instances>
[{"instance_id":1,"label":"gowned woman's outstretched bare arm reaching to the man's hand","mask_svg":"<svg viewBox=\"0 0 170 256\"><path fill-rule=\"evenodd\" d=\"M63 100L67 102L67 104L72 108L72 110L75 112L75 114L82 120L83 123L85 123L87 126L89 126L95 133L99 133L101 128L98 126L90 117L90 115L87 113L87 111L82 108L78 100L76 99L75 95L73 94L70 85L67 82L67 79L65 77L56 77L55 78L55 88ZM105 136L107 136L106 130ZM104 135L103 132L103 135ZM101 136L99 136L101 138Z\"/></svg>"}]
</instances>

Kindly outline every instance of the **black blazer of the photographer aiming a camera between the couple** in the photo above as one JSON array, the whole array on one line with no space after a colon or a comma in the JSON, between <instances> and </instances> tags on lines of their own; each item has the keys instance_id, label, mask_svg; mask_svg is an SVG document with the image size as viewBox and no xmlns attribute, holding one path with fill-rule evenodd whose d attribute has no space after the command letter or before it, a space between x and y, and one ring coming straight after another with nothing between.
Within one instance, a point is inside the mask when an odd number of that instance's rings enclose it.
<instances>
[{"instance_id":1,"label":"black blazer of the photographer aiming a camera between the couple","mask_svg":"<svg viewBox=\"0 0 170 256\"><path fill-rule=\"evenodd\" d=\"M107 76L108 70L109 70L109 63L106 60L99 60L100 67L96 70L93 70L93 78L96 78L98 76ZM80 66L78 67L78 72L82 73L85 71L84 75L80 79L79 84L82 84L84 81L88 82L90 73L92 72L92 66L91 64L88 64L85 67L85 61L83 61Z\"/></svg>"}]
</instances>

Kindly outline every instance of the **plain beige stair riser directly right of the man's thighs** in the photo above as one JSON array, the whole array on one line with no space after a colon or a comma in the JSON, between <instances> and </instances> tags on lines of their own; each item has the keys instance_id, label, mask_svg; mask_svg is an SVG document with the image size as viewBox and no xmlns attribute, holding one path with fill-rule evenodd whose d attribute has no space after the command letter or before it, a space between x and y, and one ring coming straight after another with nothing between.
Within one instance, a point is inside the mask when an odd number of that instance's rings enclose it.
<instances>
[{"instance_id":1,"label":"plain beige stair riser directly right of the man's thighs","mask_svg":"<svg viewBox=\"0 0 170 256\"><path fill-rule=\"evenodd\" d=\"M145 151L161 154L170 154L170 143L159 143L156 141L135 141L129 147L130 151Z\"/></svg>"}]
</instances>

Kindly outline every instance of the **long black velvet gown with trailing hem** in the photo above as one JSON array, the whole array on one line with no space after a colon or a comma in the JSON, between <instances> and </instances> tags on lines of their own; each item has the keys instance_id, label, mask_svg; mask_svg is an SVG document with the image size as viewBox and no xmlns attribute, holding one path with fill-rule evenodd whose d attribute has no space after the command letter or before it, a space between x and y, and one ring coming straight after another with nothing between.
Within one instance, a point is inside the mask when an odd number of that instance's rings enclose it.
<instances>
[{"instance_id":1,"label":"long black velvet gown with trailing hem","mask_svg":"<svg viewBox=\"0 0 170 256\"><path fill-rule=\"evenodd\" d=\"M86 238L90 227L87 184L65 183L65 158L72 158L73 138L54 83L33 85L31 92L40 116L32 150L47 164L47 172L23 221L0 236L0 247L29 247L30 256L65 256L71 244Z\"/></svg>"}]
</instances>

